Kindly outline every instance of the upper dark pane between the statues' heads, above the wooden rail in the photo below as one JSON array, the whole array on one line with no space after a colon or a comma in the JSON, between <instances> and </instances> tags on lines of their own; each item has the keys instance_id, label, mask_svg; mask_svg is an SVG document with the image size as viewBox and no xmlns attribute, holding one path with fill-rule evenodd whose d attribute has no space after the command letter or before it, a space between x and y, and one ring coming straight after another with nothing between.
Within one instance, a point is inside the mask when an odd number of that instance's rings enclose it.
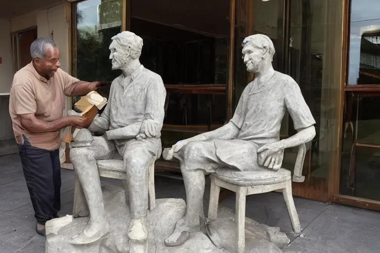
<instances>
[{"instance_id":1,"label":"upper dark pane between the statues' heads, above the wooden rail","mask_svg":"<svg viewBox=\"0 0 380 253\"><path fill-rule=\"evenodd\" d=\"M226 84L228 11L229 0L132 0L142 63L165 84Z\"/></svg>"}]
</instances>

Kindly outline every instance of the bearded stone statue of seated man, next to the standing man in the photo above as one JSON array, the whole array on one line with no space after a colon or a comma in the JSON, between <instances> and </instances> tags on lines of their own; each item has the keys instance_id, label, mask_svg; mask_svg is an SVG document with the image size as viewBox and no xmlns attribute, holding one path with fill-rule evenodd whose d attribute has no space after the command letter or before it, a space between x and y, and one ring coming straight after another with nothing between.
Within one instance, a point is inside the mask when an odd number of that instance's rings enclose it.
<instances>
[{"instance_id":1,"label":"bearded stone statue of seated man, next to the standing man","mask_svg":"<svg viewBox=\"0 0 380 253\"><path fill-rule=\"evenodd\" d=\"M109 49L112 69L123 73L113 80L101 116L95 117L88 129L79 130L70 149L70 160L90 211L86 228L72 238L75 244L93 243L109 231L96 160L119 155L127 172L132 218L128 236L134 240L146 238L148 168L162 152L160 136L166 90L161 77L139 61L142 38L122 32L112 38ZM91 132L103 135L94 136Z\"/></svg>"}]
</instances>

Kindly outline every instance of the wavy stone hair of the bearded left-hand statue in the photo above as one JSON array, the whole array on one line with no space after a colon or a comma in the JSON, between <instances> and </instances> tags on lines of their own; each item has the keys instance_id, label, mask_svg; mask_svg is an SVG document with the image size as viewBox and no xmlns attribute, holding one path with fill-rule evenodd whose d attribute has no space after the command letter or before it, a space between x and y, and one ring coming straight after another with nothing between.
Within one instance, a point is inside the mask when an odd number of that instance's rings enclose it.
<instances>
[{"instance_id":1,"label":"wavy stone hair of the bearded left-hand statue","mask_svg":"<svg viewBox=\"0 0 380 253\"><path fill-rule=\"evenodd\" d=\"M140 57L143 44L140 36L129 31L124 31L111 39L118 42L122 47L129 47L132 58L137 59Z\"/></svg>"}]
</instances>

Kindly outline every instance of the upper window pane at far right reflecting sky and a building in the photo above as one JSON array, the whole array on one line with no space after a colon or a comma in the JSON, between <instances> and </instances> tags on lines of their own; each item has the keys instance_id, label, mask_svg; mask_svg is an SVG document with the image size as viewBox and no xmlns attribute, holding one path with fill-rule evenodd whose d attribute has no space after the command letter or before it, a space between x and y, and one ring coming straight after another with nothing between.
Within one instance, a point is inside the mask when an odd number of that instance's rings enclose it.
<instances>
[{"instance_id":1,"label":"upper window pane at far right reflecting sky and a building","mask_svg":"<svg viewBox=\"0 0 380 253\"><path fill-rule=\"evenodd\" d=\"M380 84L380 1L351 0L348 84Z\"/></svg>"}]
</instances>

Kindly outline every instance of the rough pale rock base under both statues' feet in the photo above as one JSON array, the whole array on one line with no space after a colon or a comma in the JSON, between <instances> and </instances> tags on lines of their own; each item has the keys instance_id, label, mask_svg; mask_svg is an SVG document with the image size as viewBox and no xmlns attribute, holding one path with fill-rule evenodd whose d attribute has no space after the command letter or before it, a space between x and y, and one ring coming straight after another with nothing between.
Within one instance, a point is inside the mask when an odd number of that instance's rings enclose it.
<instances>
[{"instance_id":1,"label":"rough pale rock base under both statues' feet","mask_svg":"<svg viewBox=\"0 0 380 253\"><path fill-rule=\"evenodd\" d=\"M156 207L147 216L148 238L145 242L130 242L128 225L129 208L125 202L124 189L116 186L102 187L104 207L110 232L99 241L89 245L71 244L71 238L83 231L89 217L73 218L71 215L46 223L45 253L229 253L234 252L235 213L220 207L218 220L208 225L212 240L202 232L196 232L183 245L166 247L164 239L173 233L176 222L184 213L183 199L157 199ZM231 217L231 218L230 218ZM279 228L258 224L246 218L245 252L281 253L289 243Z\"/></svg>"}]
</instances>

